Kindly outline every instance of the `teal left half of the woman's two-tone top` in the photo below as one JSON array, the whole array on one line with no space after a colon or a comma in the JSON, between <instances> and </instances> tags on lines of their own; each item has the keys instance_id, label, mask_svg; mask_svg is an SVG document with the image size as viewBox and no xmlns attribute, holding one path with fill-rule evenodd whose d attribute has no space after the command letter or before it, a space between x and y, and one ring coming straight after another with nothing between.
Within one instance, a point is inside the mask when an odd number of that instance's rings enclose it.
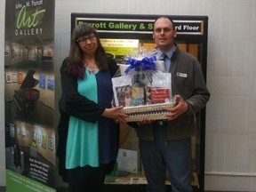
<instances>
[{"instance_id":1,"label":"teal left half of the woman's two-tone top","mask_svg":"<svg viewBox=\"0 0 256 192\"><path fill-rule=\"evenodd\" d=\"M89 74L83 80L77 80L78 92L98 103L96 74ZM98 73L98 72L97 72ZM68 141L66 151L66 168L77 166L99 166L98 122L95 124L70 116L68 124Z\"/></svg>"}]
</instances>

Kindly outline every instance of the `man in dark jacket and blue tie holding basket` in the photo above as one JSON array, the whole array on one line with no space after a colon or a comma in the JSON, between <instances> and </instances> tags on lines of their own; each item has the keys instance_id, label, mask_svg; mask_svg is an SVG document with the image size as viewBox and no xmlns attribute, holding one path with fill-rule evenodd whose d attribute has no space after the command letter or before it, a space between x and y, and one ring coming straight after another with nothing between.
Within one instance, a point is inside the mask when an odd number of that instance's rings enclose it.
<instances>
[{"instance_id":1,"label":"man in dark jacket and blue tie holding basket","mask_svg":"<svg viewBox=\"0 0 256 192\"><path fill-rule=\"evenodd\" d=\"M191 192L191 137L196 134L196 112L210 98L201 66L195 57L174 43L172 20L155 21L153 38L157 52L165 54L166 72L172 73L172 95L176 106L168 108L167 120L143 120L137 129L140 156L148 180L148 192L164 192L166 170L172 192Z\"/></svg>"}]
</instances>

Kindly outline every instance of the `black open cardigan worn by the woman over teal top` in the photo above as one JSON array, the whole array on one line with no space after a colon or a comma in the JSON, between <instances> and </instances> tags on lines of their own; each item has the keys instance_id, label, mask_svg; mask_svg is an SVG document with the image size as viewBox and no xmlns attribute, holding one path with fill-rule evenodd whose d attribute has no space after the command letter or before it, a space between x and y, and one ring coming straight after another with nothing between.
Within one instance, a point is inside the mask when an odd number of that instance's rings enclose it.
<instances>
[{"instance_id":1,"label":"black open cardigan worn by the woman over teal top","mask_svg":"<svg viewBox=\"0 0 256 192\"><path fill-rule=\"evenodd\" d=\"M118 69L116 60L108 58L107 64L111 76L116 76ZM67 65L68 58L63 60L60 67L62 94L59 101L60 119L58 124L59 140L57 146L59 174L65 182L68 182L68 174L65 164L69 116L76 116L84 121L95 123L105 110L105 108L100 108L97 103L92 100L88 100L77 92L77 79L68 75ZM84 113L81 113L82 108ZM111 164L111 167L113 164ZM111 171L111 167L109 168L109 171Z\"/></svg>"}]
</instances>

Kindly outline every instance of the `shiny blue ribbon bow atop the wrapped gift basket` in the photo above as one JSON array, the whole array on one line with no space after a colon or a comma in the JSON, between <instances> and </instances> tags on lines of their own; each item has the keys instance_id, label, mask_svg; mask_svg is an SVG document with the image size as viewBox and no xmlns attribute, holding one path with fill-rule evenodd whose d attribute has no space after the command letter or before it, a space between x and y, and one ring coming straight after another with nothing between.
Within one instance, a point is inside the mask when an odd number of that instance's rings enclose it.
<instances>
[{"instance_id":1,"label":"shiny blue ribbon bow atop the wrapped gift basket","mask_svg":"<svg viewBox=\"0 0 256 192\"><path fill-rule=\"evenodd\" d=\"M130 64L128 68L124 71L124 73L127 75L129 71L132 70L132 68L135 69L135 71L142 70L156 70L156 65L154 63L156 61L156 56L153 56L151 58L145 57L142 60L134 60L131 57L126 60L125 64Z\"/></svg>"}]
</instances>

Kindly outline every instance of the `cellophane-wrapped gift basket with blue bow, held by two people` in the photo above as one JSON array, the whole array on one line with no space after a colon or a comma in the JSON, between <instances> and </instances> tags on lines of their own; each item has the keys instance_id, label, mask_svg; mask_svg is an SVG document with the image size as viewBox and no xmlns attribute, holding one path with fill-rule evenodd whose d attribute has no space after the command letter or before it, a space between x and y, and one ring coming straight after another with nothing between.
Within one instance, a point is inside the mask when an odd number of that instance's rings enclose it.
<instances>
[{"instance_id":1,"label":"cellophane-wrapped gift basket with blue bow, held by two people","mask_svg":"<svg viewBox=\"0 0 256 192\"><path fill-rule=\"evenodd\" d=\"M166 119L172 108L172 76L165 73L157 52L127 57L119 76L112 78L116 106L124 106L127 122Z\"/></svg>"}]
</instances>

